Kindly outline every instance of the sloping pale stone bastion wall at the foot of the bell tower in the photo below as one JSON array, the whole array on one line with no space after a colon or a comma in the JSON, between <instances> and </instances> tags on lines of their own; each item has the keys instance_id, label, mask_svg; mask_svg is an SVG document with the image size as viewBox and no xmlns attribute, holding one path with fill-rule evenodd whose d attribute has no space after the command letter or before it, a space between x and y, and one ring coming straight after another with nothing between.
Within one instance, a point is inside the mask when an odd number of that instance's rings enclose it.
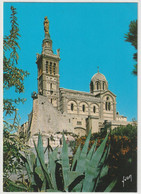
<instances>
[{"instance_id":1,"label":"sloping pale stone bastion wall at the foot of the bell tower","mask_svg":"<svg viewBox=\"0 0 141 194\"><path fill-rule=\"evenodd\" d=\"M38 98L33 100L30 130L33 136L39 132L42 134L53 134L63 130L73 132L73 126L69 123L69 118L54 108L47 97L38 95Z\"/></svg>"}]
</instances>

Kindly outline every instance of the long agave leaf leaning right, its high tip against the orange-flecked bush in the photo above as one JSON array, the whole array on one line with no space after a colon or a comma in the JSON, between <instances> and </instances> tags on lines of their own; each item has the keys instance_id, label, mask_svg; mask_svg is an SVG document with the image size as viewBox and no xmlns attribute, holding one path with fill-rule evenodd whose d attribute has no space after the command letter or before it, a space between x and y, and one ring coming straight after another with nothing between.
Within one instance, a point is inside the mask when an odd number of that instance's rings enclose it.
<instances>
[{"instance_id":1,"label":"long agave leaf leaning right, its high tip against the orange-flecked bush","mask_svg":"<svg viewBox=\"0 0 141 194\"><path fill-rule=\"evenodd\" d=\"M101 143L101 145L98 147L96 152L93 154L90 162L87 163L82 192L93 191L95 180L98 178L98 175L100 174L100 171L101 171L99 162L103 155L107 138L108 138L108 135L105 137L104 141Z\"/></svg>"}]
</instances>

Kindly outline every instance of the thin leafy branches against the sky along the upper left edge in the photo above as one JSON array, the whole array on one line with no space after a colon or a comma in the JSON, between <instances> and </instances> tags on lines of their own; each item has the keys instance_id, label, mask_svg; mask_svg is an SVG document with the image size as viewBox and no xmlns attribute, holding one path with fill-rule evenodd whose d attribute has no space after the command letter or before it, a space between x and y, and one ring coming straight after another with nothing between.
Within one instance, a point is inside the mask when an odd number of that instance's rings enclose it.
<instances>
[{"instance_id":1,"label":"thin leafy branches against the sky along the upper left edge","mask_svg":"<svg viewBox=\"0 0 141 194\"><path fill-rule=\"evenodd\" d=\"M3 40L3 87L4 92L11 87L15 88L16 93L21 93L24 91L24 78L29 75L27 71L17 68L18 65L18 53L17 50L20 49L18 44L18 39L20 37L19 27L16 17L16 9L11 6L11 30L8 36L4 37ZM4 99L3 110L5 114L12 114L16 107L15 105L22 102L25 99Z\"/></svg>"}]
</instances>

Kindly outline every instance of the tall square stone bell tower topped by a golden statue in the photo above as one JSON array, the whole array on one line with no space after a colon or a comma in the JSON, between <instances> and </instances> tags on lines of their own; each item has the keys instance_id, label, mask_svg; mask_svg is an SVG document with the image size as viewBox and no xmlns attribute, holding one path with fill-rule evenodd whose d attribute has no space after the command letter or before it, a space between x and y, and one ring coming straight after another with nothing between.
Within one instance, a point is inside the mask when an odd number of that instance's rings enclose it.
<instances>
[{"instance_id":1,"label":"tall square stone bell tower topped by a golden statue","mask_svg":"<svg viewBox=\"0 0 141 194\"><path fill-rule=\"evenodd\" d=\"M50 103L59 107L59 61L60 49L53 53L52 40L49 34L49 20L44 19L45 38L42 42L42 53L37 54L38 94L46 96Z\"/></svg>"}]
</instances>

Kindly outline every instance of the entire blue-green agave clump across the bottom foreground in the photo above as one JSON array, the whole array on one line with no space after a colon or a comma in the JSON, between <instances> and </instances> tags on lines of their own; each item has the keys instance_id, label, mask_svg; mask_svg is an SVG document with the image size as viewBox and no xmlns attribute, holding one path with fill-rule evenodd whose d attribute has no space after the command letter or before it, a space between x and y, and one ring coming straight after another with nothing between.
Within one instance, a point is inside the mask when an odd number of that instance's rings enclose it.
<instances>
[{"instance_id":1,"label":"entire blue-green agave clump across the bottom foreground","mask_svg":"<svg viewBox=\"0 0 141 194\"><path fill-rule=\"evenodd\" d=\"M100 180L107 174L108 167L105 161L109 154L106 147L108 135L96 149L96 142L88 151L91 133L86 139L83 149L78 147L73 162L70 166L68 157L68 145L63 135L63 147L58 157L58 148L49 153L48 163L44 160L42 137L38 135L38 145L35 144L34 153L22 156L25 162L28 179L22 186L23 190L36 192L94 192L100 184ZM104 190L110 192L116 181ZM18 185L17 185L18 187ZM21 185L20 185L21 187Z\"/></svg>"}]
</instances>

